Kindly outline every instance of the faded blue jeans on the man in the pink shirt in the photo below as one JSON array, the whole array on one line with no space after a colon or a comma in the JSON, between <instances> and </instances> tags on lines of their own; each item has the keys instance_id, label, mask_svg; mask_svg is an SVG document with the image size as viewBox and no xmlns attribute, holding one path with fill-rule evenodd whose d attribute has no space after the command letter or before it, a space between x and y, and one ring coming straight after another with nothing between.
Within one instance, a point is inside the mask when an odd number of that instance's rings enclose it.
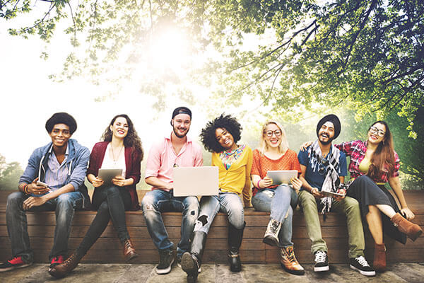
<instances>
[{"instance_id":1,"label":"faded blue jeans on the man in the pink shirt","mask_svg":"<svg viewBox=\"0 0 424 283\"><path fill-rule=\"evenodd\" d=\"M199 214L197 197L174 197L172 190L151 190L141 201L143 216L148 233L158 250L172 248L174 243L168 238L161 212L182 212L181 239L177 246L177 256L190 250L190 237Z\"/></svg>"}]
</instances>

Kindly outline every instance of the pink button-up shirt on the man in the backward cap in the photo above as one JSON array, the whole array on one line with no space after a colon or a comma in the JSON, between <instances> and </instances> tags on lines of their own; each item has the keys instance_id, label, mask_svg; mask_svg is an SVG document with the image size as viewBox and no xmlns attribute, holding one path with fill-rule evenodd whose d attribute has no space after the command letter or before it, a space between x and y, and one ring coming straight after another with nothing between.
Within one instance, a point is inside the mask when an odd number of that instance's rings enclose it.
<instances>
[{"instance_id":1,"label":"pink button-up shirt on the man in the backward cap","mask_svg":"<svg viewBox=\"0 0 424 283\"><path fill-rule=\"evenodd\" d=\"M203 166L203 156L199 144L192 142L192 139L187 137L187 141L184 146L182 146L179 154L175 154L175 150L171 143L171 137L165 137L157 144L153 144L148 153L145 178L156 177L166 183L172 183L172 168L174 166ZM152 190L161 189L152 187Z\"/></svg>"}]
</instances>

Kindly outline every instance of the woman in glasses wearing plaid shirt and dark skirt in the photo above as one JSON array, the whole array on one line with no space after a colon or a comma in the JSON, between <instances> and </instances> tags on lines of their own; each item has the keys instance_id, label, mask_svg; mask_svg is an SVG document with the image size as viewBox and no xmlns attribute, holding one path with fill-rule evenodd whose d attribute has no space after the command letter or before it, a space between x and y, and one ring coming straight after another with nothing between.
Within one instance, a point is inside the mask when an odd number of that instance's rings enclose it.
<instances>
[{"instance_id":1,"label":"woman in glasses wearing plaid shirt and dark skirt","mask_svg":"<svg viewBox=\"0 0 424 283\"><path fill-rule=\"evenodd\" d=\"M386 267L383 231L401 243L406 243L406 236L415 241L423 232L420 226L409 221L414 214L401 190L399 156L394 151L389 126L384 121L377 121L368 129L367 141L348 141L336 147L351 157L349 171L355 180L347 194L358 200L367 220L375 241L374 267L381 272ZM385 183L394 191L401 209L384 187Z\"/></svg>"}]
</instances>

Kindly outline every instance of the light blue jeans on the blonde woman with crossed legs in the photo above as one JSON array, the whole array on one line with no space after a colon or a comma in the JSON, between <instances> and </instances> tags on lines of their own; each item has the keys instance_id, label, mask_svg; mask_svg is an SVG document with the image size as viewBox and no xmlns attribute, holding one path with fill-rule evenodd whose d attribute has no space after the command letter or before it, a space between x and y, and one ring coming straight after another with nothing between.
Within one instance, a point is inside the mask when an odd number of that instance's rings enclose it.
<instances>
[{"instance_id":1,"label":"light blue jeans on the blonde woman with crossed legs","mask_svg":"<svg viewBox=\"0 0 424 283\"><path fill-rule=\"evenodd\" d=\"M264 189L252 198L254 209L259 212L271 212L270 217L281 222L278 233L279 246L293 246L293 209L298 205L298 194L288 185L279 185L275 189ZM287 218L285 217L287 215Z\"/></svg>"}]
</instances>

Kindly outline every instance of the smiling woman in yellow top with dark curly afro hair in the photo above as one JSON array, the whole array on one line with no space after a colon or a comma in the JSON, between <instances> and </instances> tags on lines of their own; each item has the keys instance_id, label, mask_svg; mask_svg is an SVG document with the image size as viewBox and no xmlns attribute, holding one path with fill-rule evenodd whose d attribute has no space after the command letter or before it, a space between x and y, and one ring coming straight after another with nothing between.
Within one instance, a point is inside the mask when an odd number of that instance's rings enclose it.
<instances>
[{"instance_id":1,"label":"smiling woman in yellow top with dark curly afro hair","mask_svg":"<svg viewBox=\"0 0 424 283\"><path fill-rule=\"evenodd\" d=\"M187 282L196 282L207 233L220 211L228 215L230 270L242 270L239 249L246 223L240 196L242 195L245 206L249 207L252 149L247 145L237 144L241 132L241 125L230 115L220 115L201 130L201 142L206 150L212 152L212 166L218 166L219 195L201 198L190 253L182 255L182 269L187 272Z\"/></svg>"}]
</instances>

